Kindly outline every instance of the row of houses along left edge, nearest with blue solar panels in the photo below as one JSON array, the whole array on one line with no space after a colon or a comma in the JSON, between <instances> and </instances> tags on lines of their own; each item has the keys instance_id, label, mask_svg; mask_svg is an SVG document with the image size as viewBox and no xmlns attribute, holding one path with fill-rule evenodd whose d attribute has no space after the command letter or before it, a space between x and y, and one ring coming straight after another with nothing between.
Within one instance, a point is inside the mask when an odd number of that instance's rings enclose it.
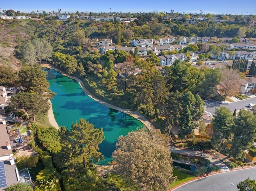
<instances>
[{"instance_id":1,"label":"row of houses along left edge, nearest with blue solar panels","mask_svg":"<svg viewBox=\"0 0 256 191\"><path fill-rule=\"evenodd\" d=\"M0 190L4 190L6 187L19 182L32 184L28 169L17 169L15 161L12 158L12 144L14 142L8 134L9 131L4 110L6 97L4 96L3 87L0 87ZM16 140L16 142L20 141L22 140Z\"/></svg>"}]
</instances>

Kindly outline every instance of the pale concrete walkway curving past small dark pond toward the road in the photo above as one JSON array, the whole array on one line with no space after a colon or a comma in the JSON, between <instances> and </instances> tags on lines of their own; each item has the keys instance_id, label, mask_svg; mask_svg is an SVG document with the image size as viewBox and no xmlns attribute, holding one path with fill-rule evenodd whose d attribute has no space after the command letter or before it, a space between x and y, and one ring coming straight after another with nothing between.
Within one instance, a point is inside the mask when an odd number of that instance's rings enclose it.
<instances>
[{"instance_id":1,"label":"pale concrete walkway curving past small dark pond toward the road","mask_svg":"<svg viewBox=\"0 0 256 191\"><path fill-rule=\"evenodd\" d=\"M202 152L199 152L199 151L180 149L172 146L170 146L169 148L171 152L174 152L177 154L185 154L188 156L201 156L201 154L203 154ZM204 153L204 156L206 159L208 159L211 162L212 165L219 167L223 172L230 171L230 169L224 163L222 163L222 161L220 161L219 159L215 159L213 155Z\"/></svg>"}]
</instances>

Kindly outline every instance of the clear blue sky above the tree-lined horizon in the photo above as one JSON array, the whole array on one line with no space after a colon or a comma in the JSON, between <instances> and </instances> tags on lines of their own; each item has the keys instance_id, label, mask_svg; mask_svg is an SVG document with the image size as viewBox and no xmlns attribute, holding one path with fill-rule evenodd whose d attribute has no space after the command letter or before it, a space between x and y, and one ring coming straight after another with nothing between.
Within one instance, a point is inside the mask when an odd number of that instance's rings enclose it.
<instances>
[{"instance_id":1,"label":"clear blue sky above the tree-lined horizon","mask_svg":"<svg viewBox=\"0 0 256 191\"><path fill-rule=\"evenodd\" d=\"M204 14L253 14L256 0L0 0L2 10L42 12L174 12Z\"/></svg>"}]
</instances>

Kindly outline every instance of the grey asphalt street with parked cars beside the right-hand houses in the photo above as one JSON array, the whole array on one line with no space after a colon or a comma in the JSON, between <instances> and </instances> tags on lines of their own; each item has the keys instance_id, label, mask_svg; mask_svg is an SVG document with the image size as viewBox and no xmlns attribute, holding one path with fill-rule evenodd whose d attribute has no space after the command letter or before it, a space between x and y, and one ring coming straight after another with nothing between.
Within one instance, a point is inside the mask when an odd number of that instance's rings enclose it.
<instances>
[{"instance_id":1,"label":"grey asphalt street with parked cars beside the right-hand houses","mask_svg":"<svg viewBox=\"0 0 256 191\"><path fill-rule=\"evenodd\" d=\"M223 105L220 104L220 102L218 101L214 101L214 100L206 100L204 101L207 108L206 111L210 112L212 115L214 115L214 111L215 108L219 108L220 106L225 106L226 108L229 108L232 112L236 109L236 110L240 110L241 108L247 108L246 106L249 103L254 103L256 104L256 97L254 98L248 98L245 100L240 100L240 101L236 101L236 102L231 102L228 105Z\"/></svg>"}]
</instances>

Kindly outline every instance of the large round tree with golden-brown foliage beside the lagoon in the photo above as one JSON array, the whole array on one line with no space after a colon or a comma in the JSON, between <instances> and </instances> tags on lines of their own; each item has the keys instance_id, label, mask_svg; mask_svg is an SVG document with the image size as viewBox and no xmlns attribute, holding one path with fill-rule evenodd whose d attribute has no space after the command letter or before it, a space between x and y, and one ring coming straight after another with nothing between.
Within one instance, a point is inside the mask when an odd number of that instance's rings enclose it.
<instances>
[{"instance_id":1,"label":"large round tree with golden-brown foliage beside the lagoon","mask_svg":"<svg viewBox=\"0 0 256 191\"><path fill-rule=\"evenodd\" d=\"M165 191L175 180L170 151L145 129L120 136L112 157L116 171L132 181L134 190Z\"/></svg>"}]
</instances>

